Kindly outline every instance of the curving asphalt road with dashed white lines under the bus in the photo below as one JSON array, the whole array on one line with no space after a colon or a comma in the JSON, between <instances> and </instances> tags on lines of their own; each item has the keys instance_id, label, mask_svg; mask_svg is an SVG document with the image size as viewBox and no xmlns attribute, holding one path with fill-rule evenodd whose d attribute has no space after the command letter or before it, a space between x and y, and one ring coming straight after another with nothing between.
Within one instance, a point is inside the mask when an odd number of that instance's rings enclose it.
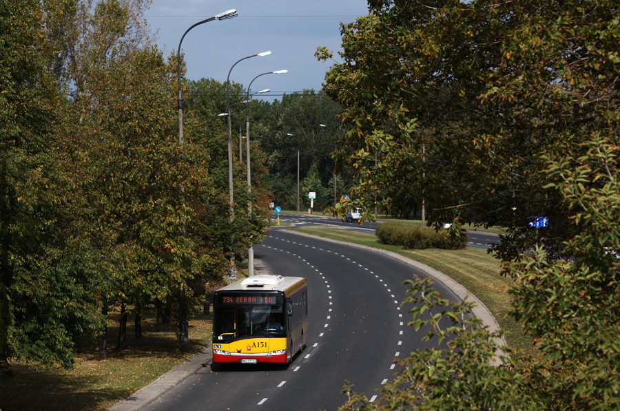
<instances>
[{"instance_id":1,"label":"curving asphalt road with dashed white lines under the bus","mask_svg":"<svg viewBox=\"0 0 620 411\"><path fill-rule=\"evenodd\" d=\"M345 381L379 401L396 357L424 348L411 319L404 280L415 268L393 258L271 229L255 257L273 274L305 277L309 341L288 367L209 367L188 377L145 410L337 410ZM422 273L418 273L422 275ZM437 284L442 295L456 299ZM433 342L431 341L431 343Z\"/></svg>"}]
</instances>

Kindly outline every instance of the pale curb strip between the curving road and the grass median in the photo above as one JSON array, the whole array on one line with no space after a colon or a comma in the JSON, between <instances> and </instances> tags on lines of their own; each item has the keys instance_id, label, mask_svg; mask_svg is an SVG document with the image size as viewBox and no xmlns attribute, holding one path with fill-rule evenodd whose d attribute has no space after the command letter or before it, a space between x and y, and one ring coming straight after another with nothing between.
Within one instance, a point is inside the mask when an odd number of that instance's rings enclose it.
<instances>
[{"instance_id":1,"label":"pale curb strip between the curving road and the grass median","mask_svg":"<svg viewBox=\"0 0 620 411\"><path fill-rule=\"evenodd\" d=\"M383 225L383 224L381 224L381 225ZM362 244L355 244L354 242L342 242L342 241L338 241L338 240L332 240L331 238L325 238L325 237L320 237L319 235L302 233L300 231L296 231L296 230L293 230L293 229L287 229L287 231L289 231L290 233L296 233L297 235L304 235L306 237L316 238L318 240L324 240L324 241L327 241L327 242L333 242L335 244L347 244L347 245L350 245L350 246L353 246L353 247L357 247L358 249L363 249L363 250L366 250L366 251L375 251L376 253L382 253L384 255L389 255L390 257L395 258L396 260L399 260L400 262L404 262L405 264L409 264L410 266L413 266L413 267L417 268L418 270L423 271L424 273L426 273L426 275L429 275L429 276L433 277L438 282L441 282L447 288L450 288L450 290L453 293L455 293L457 295L457 297L459 297L460 299L467 298L470 301L475 302L476 305L471 310L473 315L475 315L476 317L481 319L482 320L482 324L484 326L488 327L488 330L491 333L494 333L495 331L499 331L499 323L497 323L497 320L495 319L495 317L493 317L493 314L490 313L490 310L488 310L488 308L486 308L486 306L482 303L482 301L480 301L478 299L478 297L476 297L475 295L470 293L467 290L467 288L465 288L461 284L455 282L455 280L452 280L451 277L448 277L444 273L441 273L440 271L435 270L435 268L427 266L426 264L422 264L421 262L418 262L418 261L415 261L415 260L411 260L411 258L404 257L404 255L400 255L398 253L393 253L392 251L376 249L375 247L364 246ZM502 337L501 339L496 339L496 341L497 341L498 344L500 344L502 346L506 346L506 339L504 339L504 337ZM499 361L499 356L500 355L507 356L506 352L496 352L495 355L496 355L496 357L493 358L493 365L494 366L502 366L502 361Z\"/></svg>"}]
</instances>

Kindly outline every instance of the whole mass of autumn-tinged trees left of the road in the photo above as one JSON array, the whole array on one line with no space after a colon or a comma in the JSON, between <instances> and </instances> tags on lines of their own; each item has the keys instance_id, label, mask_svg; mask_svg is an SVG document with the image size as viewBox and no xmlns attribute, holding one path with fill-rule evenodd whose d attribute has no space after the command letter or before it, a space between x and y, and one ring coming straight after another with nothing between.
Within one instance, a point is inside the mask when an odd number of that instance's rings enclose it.
<instances>
[{"instance_id":1,"label":"whole mass of autumn-tinged trees left of the road","mask_svg":"<svg viewBox=\"0 0 620 411\"><path fill-rule=\"evenodd\" d=\"M216 118L187 110L180 144L177 59L150 45L147 5L0 2L0 366L71 367L116 304L172 308L183 349L188 306L223 282L231 239L266 233L257 147L251 191L235 164L231 222Z\"/></svg>"}]
</instances>

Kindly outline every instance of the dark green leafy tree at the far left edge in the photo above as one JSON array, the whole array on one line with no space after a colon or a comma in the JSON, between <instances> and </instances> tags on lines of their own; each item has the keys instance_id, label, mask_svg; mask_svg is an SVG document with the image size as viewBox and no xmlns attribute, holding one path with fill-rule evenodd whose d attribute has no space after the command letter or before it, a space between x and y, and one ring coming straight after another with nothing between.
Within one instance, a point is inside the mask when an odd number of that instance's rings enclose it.
<instances>
[{"instance_id":1,"label":"dark green leafy tree at the far left edge","mask_svg":"<svg viewBox=\"0 0 620 411\"><path fill-rule=\"evenodd\" d=\"M69 367L99 320L95 256L72 217L54 134L63 101L46 67L39 2L2 2L0 16L0 366Z\"/></svg>"}]
</instances>

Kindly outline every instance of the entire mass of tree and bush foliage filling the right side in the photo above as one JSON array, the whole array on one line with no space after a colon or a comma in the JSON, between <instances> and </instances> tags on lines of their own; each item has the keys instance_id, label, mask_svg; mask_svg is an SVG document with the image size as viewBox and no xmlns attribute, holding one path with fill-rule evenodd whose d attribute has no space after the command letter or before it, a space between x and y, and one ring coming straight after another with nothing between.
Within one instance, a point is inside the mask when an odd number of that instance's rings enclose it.
<instances>
[{"instance_id":1,"label":"entire mass of tree and bush foliage filling the right side","mask_svg":"<svg viewBox=\"0 0 620 411\"><path fill-rule=\"evenodd\" d=\"M357 171L348 205L390 208L405 187L434 224L508 227L495 251L540 356L490 366L490 333L459 304L433 311L414 282L411 324L447 348L414 352L380 403L347 391L342 409L618 409L617 2L369 3L326 76L351 129L338 153ZM548 228L528 227L542 215Z\"/></svg>"}]
</instances>

